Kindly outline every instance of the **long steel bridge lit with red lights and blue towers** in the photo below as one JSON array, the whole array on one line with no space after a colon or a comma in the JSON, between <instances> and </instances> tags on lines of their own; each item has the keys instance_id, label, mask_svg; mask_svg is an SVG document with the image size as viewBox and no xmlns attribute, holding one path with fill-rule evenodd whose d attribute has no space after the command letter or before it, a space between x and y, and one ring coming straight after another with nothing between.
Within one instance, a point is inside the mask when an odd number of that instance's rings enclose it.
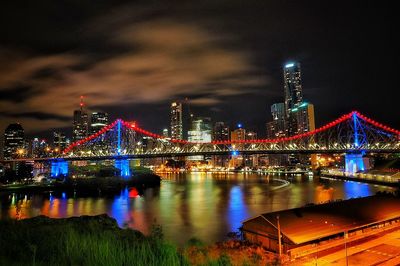
<instances>
[{"instance_id":1,"label":"long steel bridge lit with red lights and blue towers","mask_svg":"<svg viewBox=\"0 0 400 266\"><path fill-rule=\"evenodd\" d=\"M66 161L74 160L113 159L116 167L122 169L133 158L295 153L344 153L347 167L348 163L360 162L365 153L400 153L400 131L353 111L311 132L291 137L196 143L166 138L135 122L117 119L72 143L57 158L33 160L51 160L57 175L64 172Z\"/></svg>"}]
</instances>

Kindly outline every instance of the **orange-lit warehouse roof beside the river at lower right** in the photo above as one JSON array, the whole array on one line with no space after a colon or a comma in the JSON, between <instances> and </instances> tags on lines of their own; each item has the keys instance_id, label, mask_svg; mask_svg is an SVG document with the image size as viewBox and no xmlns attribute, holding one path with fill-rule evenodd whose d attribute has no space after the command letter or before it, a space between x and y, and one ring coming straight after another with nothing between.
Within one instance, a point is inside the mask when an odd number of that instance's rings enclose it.
<instances>
[{"instance_id":1,"label":"orange-lit warehouse roof beside the river at lower right","mask_svg":"<svg viewBox=\"0 0 400 266\"><path fill-rule=\"evenodd\" d=\"M302 244L400 217L400 199L372 196L335 201L264 213L244 224L258 223L262 228L267 223L277 228L277 216L282 234L294 244Z\"/></svg>"}]
</instances>

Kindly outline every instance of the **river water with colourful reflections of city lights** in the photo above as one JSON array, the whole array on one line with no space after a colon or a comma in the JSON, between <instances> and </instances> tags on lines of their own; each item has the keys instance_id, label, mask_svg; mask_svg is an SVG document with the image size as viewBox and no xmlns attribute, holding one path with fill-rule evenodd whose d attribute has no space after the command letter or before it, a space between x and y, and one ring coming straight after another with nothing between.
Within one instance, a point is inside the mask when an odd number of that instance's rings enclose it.
<instances>
[{"instance_id":1,"label":"river water with colourful reflections of city lights","mask_svg":"<svg viewBox=\"0 0 400 266\"><path fill-rule=\"evenodd\" d=\"M0 219L107 213L121 227L144 233L149 233L153 223L161 224L166 239L179 245L191 237L212 243L225 239L242 221L261 213L392 190L302 175L179 173L162 178L161 187L146 189L142 195L135 188L114 197L2 193Z\"/></svg>"}]
</instances>

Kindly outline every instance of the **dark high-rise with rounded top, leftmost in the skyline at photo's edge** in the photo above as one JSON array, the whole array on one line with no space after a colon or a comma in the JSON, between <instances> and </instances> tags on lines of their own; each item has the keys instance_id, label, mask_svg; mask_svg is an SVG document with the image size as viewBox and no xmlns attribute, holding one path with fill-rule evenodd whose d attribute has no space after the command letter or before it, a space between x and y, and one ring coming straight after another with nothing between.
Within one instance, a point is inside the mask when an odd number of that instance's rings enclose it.
<instances>
[{"instance_id":1,"label":"dark high-rise with rounded top, leftmost in the skyline at photo's edge","mask_svg":"<svg viewBox=\"0 0 400 266\"><path fill-rule=\"evenodd\" d=\"M24 129L18 123L10 124L4 131L4 160L25 156Z\"/></svg>"}]
</instances>

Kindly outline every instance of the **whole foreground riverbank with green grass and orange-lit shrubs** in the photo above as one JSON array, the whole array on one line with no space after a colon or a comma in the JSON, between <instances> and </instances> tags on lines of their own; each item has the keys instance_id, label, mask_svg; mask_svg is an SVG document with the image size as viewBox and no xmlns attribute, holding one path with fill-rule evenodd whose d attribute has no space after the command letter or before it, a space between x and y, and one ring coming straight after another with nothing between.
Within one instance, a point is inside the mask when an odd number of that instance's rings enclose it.
<instances>
[{"instance_id":1,"label":"whole foreground riverbank with green grass and orange-lit shrubs","mask_svg":"<svg viewBox=\"0 0 400 266\"><path fill-rule=\"evenodd\" d=\"M0 265L260 265L274 255L243 241L206 246L192 239L183 248L151 234L121 229L107 215L0 220Z\"/></svg>"}]
</instances>

